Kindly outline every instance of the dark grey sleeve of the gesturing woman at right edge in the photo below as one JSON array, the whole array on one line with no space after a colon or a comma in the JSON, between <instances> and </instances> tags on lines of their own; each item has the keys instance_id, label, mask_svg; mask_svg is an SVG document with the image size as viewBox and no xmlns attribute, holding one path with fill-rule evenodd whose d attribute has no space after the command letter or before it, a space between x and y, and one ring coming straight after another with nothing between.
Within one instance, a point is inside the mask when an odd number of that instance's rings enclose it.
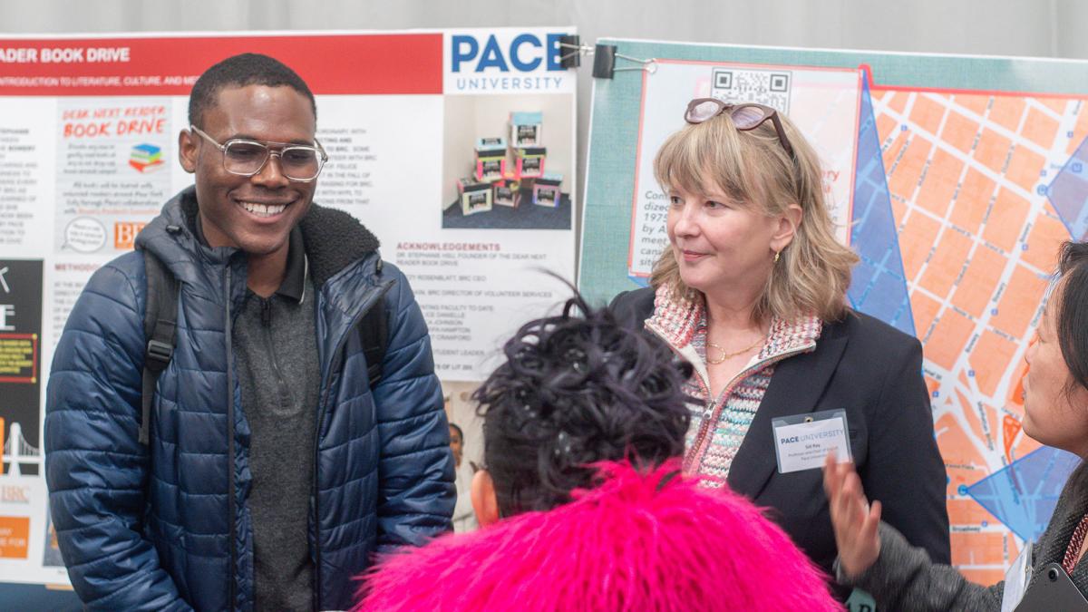
<instances>
[{"instance_id":1,"label":"dark grey sleeve of the gesturing woman at right edge","mask_svg":"<svg viewBox=\"0 0 1088 612\"><path fill-rule=\"evenodd\" d=\"M1038 544L1033 549L1038 558ZM846 576L836 561L839 584L857 587L877 602L878 610L1001 610L1004 583L984 587L967 582L955 567L929 561L931 553L912 547L887 523L880 523L880 554L871 567Z\"/></svg>"}]
</instances>

